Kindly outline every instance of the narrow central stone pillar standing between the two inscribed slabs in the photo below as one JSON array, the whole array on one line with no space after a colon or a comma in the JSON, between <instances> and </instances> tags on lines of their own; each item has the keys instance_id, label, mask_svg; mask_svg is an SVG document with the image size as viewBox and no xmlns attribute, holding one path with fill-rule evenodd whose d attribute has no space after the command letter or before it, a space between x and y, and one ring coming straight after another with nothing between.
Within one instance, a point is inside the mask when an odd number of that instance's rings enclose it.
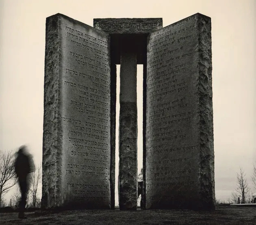
<instances>
[{"instance_id":1,"label":"narrow central stone pillar standing between the two inscribed slabs","mask_svg":"<svg viewBox=\"0 0 256 225\"><path fill-rule=\"evenodd\" d=\"M119 208L137 209L137 56L123 41L120 65Z\"/></svg>"}]
</instances>

